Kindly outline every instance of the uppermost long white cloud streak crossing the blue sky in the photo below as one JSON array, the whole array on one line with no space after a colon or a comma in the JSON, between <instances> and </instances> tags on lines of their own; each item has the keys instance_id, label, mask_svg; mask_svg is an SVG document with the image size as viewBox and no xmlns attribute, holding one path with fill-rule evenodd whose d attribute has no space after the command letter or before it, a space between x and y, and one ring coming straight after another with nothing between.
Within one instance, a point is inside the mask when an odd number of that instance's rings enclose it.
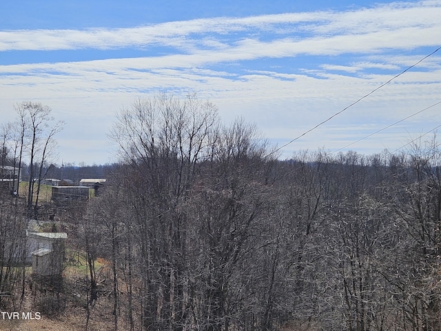
<instances>
[{"instance_id":1,"label":"uppermost long white cloud streak crossing the blue sky","mask_svg":"<svg viewBox=\"0 0 441 331\"><path fill-rule=\"evenodd\" d=\"M358 11L272 14L240 19L220 17L136 28L12 30L0 32L0 51L85 48L148 50L150 46L157 45L185 50L189 44L194 46L201 43L206 48L219 49L227 44L227 36L229 43L235 41L238 46L273 46L274 43L281 43L291 48L294 54L296 49L308 54L339 54L348 50L346 41L354 36L360 38L355 49L360 52L371 48L433 45L440 40L439 17L440 1L421 1L379 5ZM269 43L259 41L260 36L269 33L274 40ZM201 36L209 36L209 39L201 39ZM251 43L253 39L254 43ZM354 51L351 46L350 50ZM230 47L234 48L233 45ZM293 54L291 52L289 54Z\"/></svg>"}]
</instances>

